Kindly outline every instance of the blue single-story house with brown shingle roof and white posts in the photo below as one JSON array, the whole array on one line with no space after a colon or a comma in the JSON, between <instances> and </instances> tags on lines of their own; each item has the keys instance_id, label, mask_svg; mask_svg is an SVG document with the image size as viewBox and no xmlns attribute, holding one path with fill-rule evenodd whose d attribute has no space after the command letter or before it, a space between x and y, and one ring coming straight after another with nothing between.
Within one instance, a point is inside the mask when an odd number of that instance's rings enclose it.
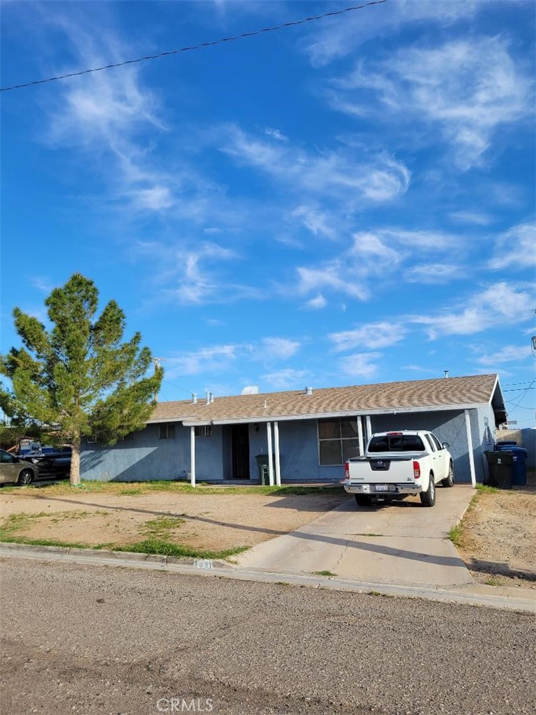
<instances>
[{"instance_id":1,"label":"blue single-story house with brown shingle roof and white posts","mask_svg":"<svg viewBox=\"0 0 536 715\"><path fill-rule=\"evenodd\" d=\"M498 375L193 395L157 404L143 430L115 445L85 440L81 476L257 483L264 458L271 484L336 482L372 433L425 429L449 443L457 482L475 483L485 477L485 451L505 420Z\"/></svg>"}]
</instances>

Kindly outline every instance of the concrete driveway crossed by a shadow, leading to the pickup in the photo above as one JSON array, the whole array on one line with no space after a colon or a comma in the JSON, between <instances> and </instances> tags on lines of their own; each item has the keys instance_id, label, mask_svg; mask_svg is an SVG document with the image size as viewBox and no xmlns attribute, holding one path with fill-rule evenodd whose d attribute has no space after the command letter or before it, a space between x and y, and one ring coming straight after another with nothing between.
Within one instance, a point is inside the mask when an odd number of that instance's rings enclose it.
<instances>
[{"instance_id":1,"label":"concrete driveway crossed by a shadow, leading to the pickup","mask_svg":"<svg viewBox=\"0 0 536 715\"><path fill-rule=\"evenodd\" d=\"M239 566L275 573L329 571L339 578L412 586L472 583L452 543L475 490L437 489L435 507L409 497L386 506L358 507L354 497L286 536L260 543L237 558Z\"/></svg>"}]
</instances>

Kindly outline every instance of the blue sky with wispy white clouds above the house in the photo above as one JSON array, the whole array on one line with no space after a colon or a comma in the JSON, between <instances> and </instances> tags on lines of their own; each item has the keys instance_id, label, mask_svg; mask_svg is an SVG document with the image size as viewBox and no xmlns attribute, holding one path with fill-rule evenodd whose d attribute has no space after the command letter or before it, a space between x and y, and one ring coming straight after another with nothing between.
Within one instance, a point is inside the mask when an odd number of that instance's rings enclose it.
<instances>
[{"instance_id":1,"label":"blue sky with wispy white clouds above the house","mask_svg":"<svg viewBox=\"0 0 536 715\"><path fill-rule=\"evenodd\" d=\"M8 2L1 84L345 6ZM3 92L2 349L80 271L161 400L497 372L535 425L534 28L389 0Z\"/></svg>"}]
</instances>

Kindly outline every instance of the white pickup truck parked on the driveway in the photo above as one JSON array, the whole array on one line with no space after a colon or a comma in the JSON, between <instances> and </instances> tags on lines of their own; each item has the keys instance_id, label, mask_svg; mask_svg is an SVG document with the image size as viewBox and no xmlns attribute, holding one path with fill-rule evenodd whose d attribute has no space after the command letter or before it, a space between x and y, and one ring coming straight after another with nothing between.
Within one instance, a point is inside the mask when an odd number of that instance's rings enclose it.
<instances>
[{"instance_id":1,"label":"white pickup truck parked on the driveway","mask_svg":"<svg viewBox=\"0 0 536 715\"><path fill-rule=\"evenodd\" d=\"M344 489L359 506L420 495L422 506L434 506L435 485L454 484L448 444L432 432L379 432L369 439L363 457L344 465Z\"/></svg>"}]
</instances>

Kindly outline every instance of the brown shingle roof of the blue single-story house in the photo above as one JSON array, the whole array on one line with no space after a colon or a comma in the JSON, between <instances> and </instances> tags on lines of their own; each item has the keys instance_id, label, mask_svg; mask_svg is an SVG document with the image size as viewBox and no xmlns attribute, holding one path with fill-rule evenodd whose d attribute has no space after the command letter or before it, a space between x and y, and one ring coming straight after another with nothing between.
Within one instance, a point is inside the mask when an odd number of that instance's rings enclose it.
<instances>
[{"instance_id":1,"label":"brown shingle roof of the blue single-story house","mask_svg":"<svg viewBox=\"0 0 536 715\"><path fill-rule=\"evenodd\" d=\"M306 395L304 390L233 395L214 398L214 402L209 405L206 400L200 400L196 405L189 400L165 402L157 405L149 422L262 422L301 415L366 413L405 408L448 409L454 405L489 403L496 380L497 375L472 375L465 378L320 388L313 390L311 395Z\"/></svg>"}]
</instances>

